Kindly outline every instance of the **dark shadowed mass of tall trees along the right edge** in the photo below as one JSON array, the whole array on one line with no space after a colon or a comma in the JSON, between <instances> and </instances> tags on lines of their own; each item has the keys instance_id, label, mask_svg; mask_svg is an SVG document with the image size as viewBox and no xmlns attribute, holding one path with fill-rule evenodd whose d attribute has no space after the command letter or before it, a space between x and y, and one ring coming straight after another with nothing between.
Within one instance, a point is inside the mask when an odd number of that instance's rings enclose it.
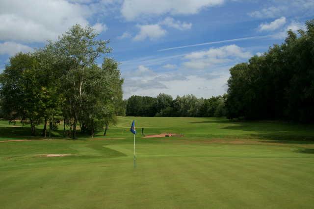
<instances>
[{"instance_id":1,"label":"dark shadowed mass of tall trees along the right edge","mask_svg":"<svg viewBox=\"0 0 314 209\"><path fill-rule=\"evenodd\" d=\"M314 20L306 26L230 69L229 118L314 121Z\"/></svg>"}]
</instances>

